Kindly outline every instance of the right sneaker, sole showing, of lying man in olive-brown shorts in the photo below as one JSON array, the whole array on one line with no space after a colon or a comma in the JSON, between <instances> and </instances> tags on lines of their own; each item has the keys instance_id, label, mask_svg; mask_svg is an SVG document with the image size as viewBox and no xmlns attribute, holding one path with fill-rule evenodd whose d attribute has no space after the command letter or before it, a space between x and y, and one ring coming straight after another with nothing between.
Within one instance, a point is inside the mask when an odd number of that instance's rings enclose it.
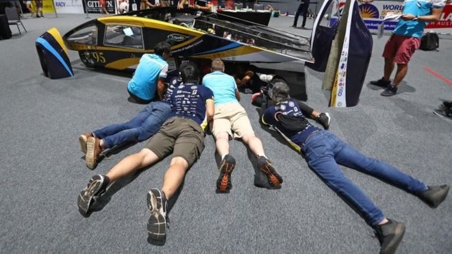
<instances>
[{"instance_id":1,"label":"right sneaker, sole showing, of lying man in olive-brown shorts","mask_svg":"<svg viewBox=\"0 0 452 254\"><path fill-rule=\"evenodd\" d=\"M147 241L154 245L164 245L166 241L166 198L162 191L151 189L147 193L147 207L151 216L147 222Z\"/></svg>"}]
</instances>

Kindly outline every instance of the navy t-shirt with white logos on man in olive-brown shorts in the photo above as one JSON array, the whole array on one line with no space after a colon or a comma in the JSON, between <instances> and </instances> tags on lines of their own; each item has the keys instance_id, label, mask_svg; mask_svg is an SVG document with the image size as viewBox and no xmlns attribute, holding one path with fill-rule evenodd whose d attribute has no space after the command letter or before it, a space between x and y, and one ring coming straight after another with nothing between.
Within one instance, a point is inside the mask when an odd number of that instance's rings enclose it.
<instances>
[{"instance_id":1,"label":"navy t-shirt with white logos on man in olive-brown shorts","mask_svg":"<svg viewBox=\"0 0 452 254\"><path fill-rule=\"evenodd\" d=\"M186 117L194 120L203 129L207 126L205 103L214 101L212 90L197 84L180 84L171 95L171 116Z\"/></svg>"}]
</instances>

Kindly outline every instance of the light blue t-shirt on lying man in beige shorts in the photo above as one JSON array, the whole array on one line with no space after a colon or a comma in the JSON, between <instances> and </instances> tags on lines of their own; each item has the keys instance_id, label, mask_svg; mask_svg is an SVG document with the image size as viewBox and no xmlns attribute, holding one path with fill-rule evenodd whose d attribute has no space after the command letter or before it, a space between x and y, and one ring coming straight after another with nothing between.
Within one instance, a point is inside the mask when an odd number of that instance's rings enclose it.
<instances>
[{"instance_id":1,"label":"light blue t-shirt on lying man in beige shorts","mask_svg":"<svg viewBox=\"0 0 452 254\"><path fill-rule=\"evenodd\" d=\"M214 92L215 105L237 101L237 84L234 77L214 71L203 77L203 86L210 88Z\"/></svg>"}]
</instances>

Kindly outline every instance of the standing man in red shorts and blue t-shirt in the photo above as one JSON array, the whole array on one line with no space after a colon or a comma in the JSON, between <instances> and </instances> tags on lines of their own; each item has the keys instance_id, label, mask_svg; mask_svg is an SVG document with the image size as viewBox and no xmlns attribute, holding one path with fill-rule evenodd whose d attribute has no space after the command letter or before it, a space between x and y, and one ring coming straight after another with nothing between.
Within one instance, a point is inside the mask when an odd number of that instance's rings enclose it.
<instances>
[{"instance_id":1,"label":"standing man in red shorts and blue t-shirt","mask_svg":"<svg viewBox=\"0 0 452 254\"><path fill-rule=\"evenodd\" d=\"M420 46L420 37L425 25L439 20L445 2L445 0L405 0L401 19L384 47L384 77L371 81L375 86L386 88L381 95L392 96L397 93L397 86L407 75L408 62ZM397 72L391 84L394 63L397 64Z\"/></svg>"}]
</instances>

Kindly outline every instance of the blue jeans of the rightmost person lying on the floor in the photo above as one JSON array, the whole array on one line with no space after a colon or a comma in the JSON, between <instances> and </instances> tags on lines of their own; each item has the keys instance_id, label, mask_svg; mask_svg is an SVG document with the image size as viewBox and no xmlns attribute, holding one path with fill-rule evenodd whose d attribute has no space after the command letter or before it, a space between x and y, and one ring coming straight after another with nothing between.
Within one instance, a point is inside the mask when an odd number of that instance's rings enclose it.
<instances>
[{"instance_id":1,"label":"blue jeans of the rightmost person lying on the floor","mask_svg":"<svg viewBox=\"0 0 452 254\"><path fill-rule=\"evenodd\" d=\"M345 177L338 164L387 181L412 194L427 190L424 183L405 175L394 166L362 155L328 131L318 131L308 137L303 151L308 166L331 190L349 201L369 225L377 225L383 220L385 218L383 212L360 188Z\"/></svg>"}]
</instances>

